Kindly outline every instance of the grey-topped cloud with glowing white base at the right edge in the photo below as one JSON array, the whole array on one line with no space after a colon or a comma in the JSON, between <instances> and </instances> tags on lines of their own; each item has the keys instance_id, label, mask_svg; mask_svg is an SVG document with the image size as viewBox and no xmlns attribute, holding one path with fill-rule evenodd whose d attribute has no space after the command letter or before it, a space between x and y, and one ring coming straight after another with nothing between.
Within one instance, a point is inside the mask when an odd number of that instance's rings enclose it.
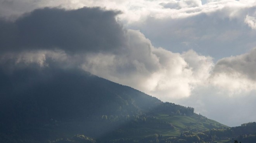
<instances>
[{"instance_id":1,"label":"grey-topped cloud with glowing white base at the right edge","mask_svg":"<svg viewBox=\"0 0 256 143\"><path fill-rule=\"evenodd\" d=\"M213 85L229 90L230 95L256 90L256 49L249 53L219 60L210 81Z\"/></svg>"}]
</instances>

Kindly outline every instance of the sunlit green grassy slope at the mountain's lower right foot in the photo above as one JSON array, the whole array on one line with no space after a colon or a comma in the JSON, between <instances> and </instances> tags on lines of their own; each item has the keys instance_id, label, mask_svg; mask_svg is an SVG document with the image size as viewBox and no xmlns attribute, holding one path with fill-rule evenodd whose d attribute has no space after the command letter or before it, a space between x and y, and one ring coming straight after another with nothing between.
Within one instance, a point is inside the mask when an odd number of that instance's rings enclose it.
<instances>
[{"instance_id":1,"label":"sunlit green grassy slope at the mountain's lower right foot","mask_svg":"<svg viewBox=\"0 0 256 143\"><path fill-rule=\"evenodd\" d=\"M183 131L198 133L211 128L226 127L228 126L211 119L201 121L194 117L161 114L155 117L147 117L145 123L128 124L122 128L123 133L119 134L119 138L141 139L154 134L161 134L168 138L170 136L180 136Z\"/></svg>"}]
</instances>

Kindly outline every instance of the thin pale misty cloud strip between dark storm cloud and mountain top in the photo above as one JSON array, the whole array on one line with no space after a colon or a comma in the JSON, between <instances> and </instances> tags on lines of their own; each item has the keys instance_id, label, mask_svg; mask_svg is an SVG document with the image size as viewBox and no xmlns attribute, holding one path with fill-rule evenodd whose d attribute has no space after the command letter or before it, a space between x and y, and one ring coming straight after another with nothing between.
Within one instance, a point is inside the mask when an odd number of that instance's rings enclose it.
<instances>
[{"instance_id":1,"label":"thin pale misty cloud strip between dark storm cloud and mountain top","mask_svg":"<svg viewBox=\"0 0 256 143\"><path fill-rule=\"evenodd\" d=\"M6 52L0 54L0 66L9 70L38 65L40 68L59 66L73 68L79 65L78 55L69 55L62 50L32 50L21 52Z\"/></svg>"}]
</instances>

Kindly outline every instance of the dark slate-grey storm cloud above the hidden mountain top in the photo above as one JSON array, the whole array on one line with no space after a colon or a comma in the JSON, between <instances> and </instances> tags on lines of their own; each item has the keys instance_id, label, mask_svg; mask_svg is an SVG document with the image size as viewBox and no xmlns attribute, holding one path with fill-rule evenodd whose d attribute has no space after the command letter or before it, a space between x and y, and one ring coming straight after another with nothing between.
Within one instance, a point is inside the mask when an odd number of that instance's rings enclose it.
<instances>
[{"instance_id":1,"label":"dark slate-grey storm cloud above the hidden mountain top","mask_svg":"<svg viewBox=\"0 0 256 143\"><path fill-rule=\"evenodd\" d=\"M112 51L123 44L119 12L84 7L78 10L38 9L14 22L0 20L1 51L62 49Z\"/></svg>"}]
</instances>

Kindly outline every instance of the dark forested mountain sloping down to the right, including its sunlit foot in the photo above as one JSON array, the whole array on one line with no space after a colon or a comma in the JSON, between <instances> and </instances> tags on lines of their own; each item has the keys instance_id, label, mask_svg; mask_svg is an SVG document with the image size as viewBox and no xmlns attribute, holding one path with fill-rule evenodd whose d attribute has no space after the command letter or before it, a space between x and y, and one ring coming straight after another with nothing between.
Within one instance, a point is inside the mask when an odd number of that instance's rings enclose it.
<instances>
[{"instance_id":1,"label":"dark forested mountain sloping down to the right, including its sunlit foot","mask_svg":"<svg viewBox=\"0 0 256 143\"><path fill-rule=\"evenodd\" d=\"M148 142L227 128L192 107L79 69L1 69L0 79L4 143Z\"/></svg>"}]
</instances>

